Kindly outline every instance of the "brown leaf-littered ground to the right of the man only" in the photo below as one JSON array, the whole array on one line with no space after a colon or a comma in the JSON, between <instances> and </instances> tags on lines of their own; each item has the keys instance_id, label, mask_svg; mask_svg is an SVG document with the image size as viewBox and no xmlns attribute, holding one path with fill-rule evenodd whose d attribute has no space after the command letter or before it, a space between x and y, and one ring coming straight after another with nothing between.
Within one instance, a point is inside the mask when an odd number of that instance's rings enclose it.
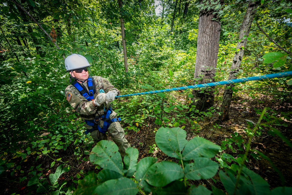
<instances>
[{"instance_id":1,"label":"brown leaf-littered ground to the right of the man only","mask_svg":"<svg viewBox=\"0 0 292 195\"><path fill-rule=\"evenodd\" d=\"M263 105L259 104L258 100L246 101L246 98L248 97L245 97L244 99L239 97L236 98L237 99L233 100L230 107L229 120L218 123L218 116L214 115L214 117L211 117L211 119L199 121L200 130L195 133L191 130L190 124L186 124L185 130L187 132L187 140L190 140L195 136L199 136L204 137L214 144L221 146L222 141L228 138L232 138L231 134L237 132L238 135L241 135L247 143L248 137L244 131L244 129L248 126L246 120L257 123L260 117L259 114L256 114L255 108L263 110L264 107L270 107L271 109L277 110L278 113L287 113L292 111L290 104L275 105L274 103L268 103L268 101L265 100L265 105ZM152 122L152 124L154 124L154 121ZM285 122L288 126L285 127L275 125L273 127L279 130L291 142L292 121L287 121L285 119L283 122ZM149 123L151 124L151 122ZM220 128L214 128L216 124L218 124ZM141 129L138 131L138 133L132 131L128 132L126 135L128 141L139 150L138 161L146 156L153 156L156 157L159 161L170 160L176 161L178 163L176 159L168 158L168 156L166 156L159 149L153 153L149 153L150 147L155 144L154 128L155 127L150 126L150 128ZM286 180L284 185L292 187L292 149L277 135L272 136L268 134L269 130L270 129L268 128L264 128L262 130L263 134L260 137L253 137L251 142L251 149L258 150L267 156L283 174ZM235 144L232 144L232 146L236 150L235 153L232 152L231 149L228 149L228 147L223 151L223 153L230 154L234 157L238 154L244 154L244 151L239 151L236 149ZM245 163L247 168L259 174L264 180L266 180L270 184L271 189L283 186L279 174L274 170L271 163L261 158L260 156L258 157L259 159L256 160L252 156L248 156L248 163ZM215 158L213 160L215 160ZM229 166L231 166L231 164L229 164ZM219 180L218 173L214 178ZM206 185L206 187L209 189L211 189L211 185L214 185L215 187L224 190L220 182L215 184L211 179L208 181L201 180L200 182L195 182L194 184L203 184Z\"/></svg>"}]
</instances>

